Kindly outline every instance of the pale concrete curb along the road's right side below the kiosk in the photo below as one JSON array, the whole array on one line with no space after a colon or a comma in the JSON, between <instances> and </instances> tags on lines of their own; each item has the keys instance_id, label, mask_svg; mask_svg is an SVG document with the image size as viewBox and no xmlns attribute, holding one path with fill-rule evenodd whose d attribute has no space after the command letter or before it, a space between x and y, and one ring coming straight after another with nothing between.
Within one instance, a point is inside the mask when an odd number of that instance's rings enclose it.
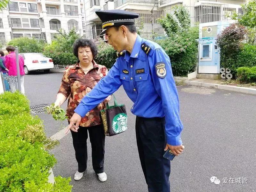
<instances>
[{"instance_id":1,"label":"pale concrete curb along the road's right side below the kiosk","mask_svg":"<svg viewBox=\"0 0 256 192\"><path fill-rule=\"evenodd\" d=\"M175 79L175 81L181 82L183 80ZM184 82L188 85L194 85L199 87L208 87L208 88L220 89L225 91L234 91L234 92L256 95L256 89L247 88L247 87L236 87L231 85L220 85L220 84L204 83L200 81L189 81L189 80L185 80Z\"/></svg>"}]
</instances>

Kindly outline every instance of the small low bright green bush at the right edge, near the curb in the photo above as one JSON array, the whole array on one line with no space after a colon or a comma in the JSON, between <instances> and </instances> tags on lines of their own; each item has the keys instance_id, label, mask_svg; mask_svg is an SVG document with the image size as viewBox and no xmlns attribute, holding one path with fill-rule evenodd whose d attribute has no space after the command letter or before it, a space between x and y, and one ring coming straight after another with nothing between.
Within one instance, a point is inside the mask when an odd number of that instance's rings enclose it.
<instances>
[{"instance_id":1,"label":"small low bright green bush at the right edge, near the curb","mask_svg":"<svg viewBox=\"0 0 256 192\"><path fill-rule=\"evenodd\" d=\"M237 68L237 79L245 82L256 82L256 66Z\"/></svg>"}]
</instances>

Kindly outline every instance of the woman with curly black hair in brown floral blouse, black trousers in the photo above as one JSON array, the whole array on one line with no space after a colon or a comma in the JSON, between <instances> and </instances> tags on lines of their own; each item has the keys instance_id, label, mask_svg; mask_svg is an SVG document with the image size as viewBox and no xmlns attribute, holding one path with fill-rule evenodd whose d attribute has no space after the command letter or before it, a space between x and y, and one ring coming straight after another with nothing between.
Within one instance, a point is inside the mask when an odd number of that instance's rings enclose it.
<instances>
[{"instance_id":1,"label":"woman with curly black hair in brown floral blouse, black trousers","mask_svg":"<svg viewBox=\"0 0 256 192\"><path fill-rule=\"evenodd\" d=\"M97 65L93 60L97 55L97 47L92 41L82 38L77 39L73 49L74 55L78 57L79 61L75 65L66 68L54 103L55 106L60 106L68 98L68 121L83 97L108 73L105 66ZM78 163L78 171L74 176L75 180L80 180L87 168L87 131L92 145L93 169L101 182L107 180L107 175L104 172L105 134L100 120L100 110L105 108L106 102L109 100L110 96L88 112L81 120L78 130L70 130Z\"/></svg>"}]
</instances>

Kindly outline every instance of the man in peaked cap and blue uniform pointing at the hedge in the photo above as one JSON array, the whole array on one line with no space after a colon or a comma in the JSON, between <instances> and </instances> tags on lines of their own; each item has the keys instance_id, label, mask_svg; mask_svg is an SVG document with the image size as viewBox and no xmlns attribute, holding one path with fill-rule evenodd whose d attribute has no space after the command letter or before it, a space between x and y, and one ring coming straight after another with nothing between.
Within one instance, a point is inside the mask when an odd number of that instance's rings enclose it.
<instances>
[{"instance_id":1,"label":"man in peaked cap and blue uniform pointing at the hedge","mask_svg":"<svg viewBox=\"0 0 256 192\"><path fill-rule=\"evenodd\" d=\"M170 161L163 157L164 151L169 148L178 156L184 149L170 59L162 47L137 34L134 19L138 14L123 10L96 14L103 24L100 35L106 33L118 58L108 75L77 106L66 133L69 129L77 132L81 117L123 85L134 102L131 112L137 116L137 146L148 191L169 192Z\"/></svg>"}]
</instances>

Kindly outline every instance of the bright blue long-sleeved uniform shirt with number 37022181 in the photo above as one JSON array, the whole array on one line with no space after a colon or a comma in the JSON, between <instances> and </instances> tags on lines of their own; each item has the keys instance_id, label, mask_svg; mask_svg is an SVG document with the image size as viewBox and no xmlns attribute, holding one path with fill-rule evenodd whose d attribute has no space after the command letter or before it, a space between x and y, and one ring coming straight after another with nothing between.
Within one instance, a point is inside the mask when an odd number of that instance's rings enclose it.
<instances>
[{"instance_id":1,"label":"bright blue long-sleeved uniform shirt with number 37022181","mask_svg":"<svg viewBox=\"0 0 256 192\"><path fill-rule=\"evenodd\" d=\"M150 47L148 54L142 50L145 47L142 45ZM83 98L75 112L84 117L121 85L134 103L131 112L146 118L165 116L167 143L181 145L183 125L178 93L170 59L160 45L138 35L132 53L126 52L117 58L108 75Z\"/></svg>"}]
</instances>

